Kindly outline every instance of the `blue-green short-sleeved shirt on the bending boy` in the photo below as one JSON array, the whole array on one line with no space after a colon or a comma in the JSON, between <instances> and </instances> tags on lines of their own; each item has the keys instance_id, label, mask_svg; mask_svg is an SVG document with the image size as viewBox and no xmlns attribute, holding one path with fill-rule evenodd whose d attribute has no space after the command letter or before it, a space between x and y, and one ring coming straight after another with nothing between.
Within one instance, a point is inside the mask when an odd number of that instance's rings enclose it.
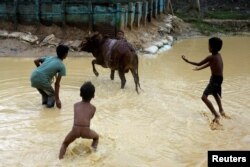
<instances>
[{"instance_id":1,"label":"blue-green short-sleeved shirt on the bending boy","mask_svg":"<svg viewBox=\"0 0 250 167\"><path fill-rule=\"evenodd\" d=\"M33 70L30 81L33 87L50 87L53 77L66 75L66 68L63 61L57 56L42 57L42 64Z\"/></svg>"}]
</instances>

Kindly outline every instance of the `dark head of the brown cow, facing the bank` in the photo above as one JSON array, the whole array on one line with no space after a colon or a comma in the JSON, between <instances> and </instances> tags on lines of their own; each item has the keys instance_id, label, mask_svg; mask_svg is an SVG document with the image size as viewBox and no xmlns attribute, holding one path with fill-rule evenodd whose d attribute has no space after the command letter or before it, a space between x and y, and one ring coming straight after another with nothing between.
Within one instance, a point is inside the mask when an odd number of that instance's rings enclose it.
<instances>
[{"instance_id":1,"label":"dark head of the brown cow, facing the bank","mask_svg":"<svg viewBox=\"0 0 250 167\"><path fill-rule=\"evenodd\" d=\"M82 51L93 52L99 48L103 41L103 36L99 32L94 32L90 37L85 37L85 42L82 45Z\"/></svg>"}]
</instances>

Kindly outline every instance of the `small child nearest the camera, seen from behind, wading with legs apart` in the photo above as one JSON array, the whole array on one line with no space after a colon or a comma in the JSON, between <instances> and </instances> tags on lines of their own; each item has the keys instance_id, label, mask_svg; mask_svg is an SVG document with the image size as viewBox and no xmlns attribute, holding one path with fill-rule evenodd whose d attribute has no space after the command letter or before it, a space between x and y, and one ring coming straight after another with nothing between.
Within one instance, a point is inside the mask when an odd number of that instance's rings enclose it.
<instances>
[{"instance_id":1,"label":"small child nearest the camera, seen from behind, wading with legs apart","mask_svg":"<svg viewBox=\"0 0 250 167\"><path fill-rule=\"evenodd\" d=\"M93 118L96 108L90 103L95 96L95 87L91 82L85 82L80 89L82 100L74 104L74 124L72 130L65 137L59 154L59 159L62 159L67 147L75 139L82 137L93 139L92 148L96 150L99 136L90 129L90 120Z\"/></svg>"}]
</instances>

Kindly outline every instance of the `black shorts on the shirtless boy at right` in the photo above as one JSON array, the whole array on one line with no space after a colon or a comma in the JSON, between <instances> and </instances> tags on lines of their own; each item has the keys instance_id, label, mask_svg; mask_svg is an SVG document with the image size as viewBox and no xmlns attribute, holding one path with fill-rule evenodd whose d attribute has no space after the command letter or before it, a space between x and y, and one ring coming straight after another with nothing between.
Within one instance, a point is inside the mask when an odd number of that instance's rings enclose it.
<instances>
[{"instance_id":1,"label":"black shorts on the shirtless boy at right","mask_svg":"<svg viewBox=\"0 0 250 167\"><path fill-rule=\"evenodd\" d=\"M223 76L212 75L210 77L209 84L203 92L203 95L220 95L221 97L221 84L223 82Z\"/></svg>"}]
</instances>

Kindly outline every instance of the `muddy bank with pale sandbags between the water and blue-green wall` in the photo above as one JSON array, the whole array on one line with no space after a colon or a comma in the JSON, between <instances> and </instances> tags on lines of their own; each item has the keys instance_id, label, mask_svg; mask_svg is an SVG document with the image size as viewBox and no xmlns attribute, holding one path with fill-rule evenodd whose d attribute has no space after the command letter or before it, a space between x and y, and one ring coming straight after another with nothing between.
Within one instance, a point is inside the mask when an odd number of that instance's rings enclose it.
<instances>
[{"instance_id":1,"label":"muddy bank with pale sandbags between the water and blue-green wall","mask_svg":"<svg viewBox=\"0 0 250 167\"><path fill-rule=\"evenodd\" d=\"M210 22L212 25L212 23ZM214 24L217 24L214 23ZM220 24L224 24L221 20ZM228 24L225 21L225 26ZM1 22L0 30L7 33L22 32L32 34L37 37L35 43L30 43L18 38L10 36L0 38L0 56L18 56L18 57L40 57L44 54L54 54L56 43L41 46L42 40L50 35L54 35L54 41L69 44L74 41L84 40L84 37L89 35L88 31L84 31L77 27L60 27L57 25L18 25L14 29L12 23ZM168 45L173 45L174 41L183 38L192 38L199 36L250 36L248 31L238 30L232 32L203 32L197 26L191 23L184 22L176 16L162 15L158 20L152 20L146 26L134 28L132 30L124 30L125 38L133 44L137 51L143 51L151 46L157 46L162 41L166 41ZM171 39L171 40L170 40ZM170 40L170 42L168 42ZM53 41L53 42L54 42ZM162 44L160 44L162 45ZM159 47L159 46L157 46ZM162 46L160 46L162 47ZM76 49L77 50L77 49ZM85 52L78 52L72 49L70 56L85 56L90 55Z\"/></svg>"}]
</instances>

